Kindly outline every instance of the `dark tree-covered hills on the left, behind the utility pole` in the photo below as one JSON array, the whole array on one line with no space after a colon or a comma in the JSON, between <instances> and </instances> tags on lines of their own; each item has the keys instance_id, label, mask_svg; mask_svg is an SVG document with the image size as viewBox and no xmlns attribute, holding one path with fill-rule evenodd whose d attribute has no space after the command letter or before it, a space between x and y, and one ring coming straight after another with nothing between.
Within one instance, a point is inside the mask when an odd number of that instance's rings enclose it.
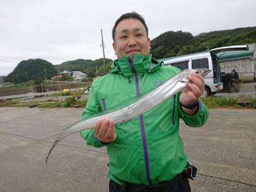
<instances>
[{"instance_id":1,"label":"dark tree-covered hills on the left, behind the utility pole","mask_svg":"<svg viewBox=\"0 0 256 192\"><path fill-rule=\"evenodd\" d=\"M112 63L111 59L105 59L106 65ZM101 66L104 66L104 59L97 60L84 60L77 59L74 61L65 61L60 65L52 65L43 59L29 59L19 62L16 68L3 77L3 82L13 82L14 84L19 84L27 81L35 81L36 84L40 84L42 80L51 80L51 78L58 72L63 72L67 70L72 72L78 70L89 77L94 77L96 75L96 67L99 69L99 73L104 73L101 70ZM103 69L103 68L102 68Z\"/></svg>"}]
</instances>

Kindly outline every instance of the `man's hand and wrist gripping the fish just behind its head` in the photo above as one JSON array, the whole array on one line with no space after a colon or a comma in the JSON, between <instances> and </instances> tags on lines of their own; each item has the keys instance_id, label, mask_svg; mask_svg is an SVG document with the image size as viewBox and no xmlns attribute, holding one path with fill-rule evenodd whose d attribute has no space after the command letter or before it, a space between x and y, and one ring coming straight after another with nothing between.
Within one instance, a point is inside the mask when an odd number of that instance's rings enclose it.
<instances>
[{"instance_id":1,"label":"man's hand and wrist gripping the fish just behind its head","mask_svg":"<svg viewBox=\"0 0 256 192\"><path fill-rule=\"evenodd\" d=\"M192 74L191 76L188 76L188 80L191 81L191 83L188 84L188 87L182 90L182 94L180 95L180 102L184 106L196 102L204 91L204 77L200 74ZM182 107L182 109L188 115L195 115L198 107L194 110L189 110L184 107Z\"/></svg>"}]
</instances>

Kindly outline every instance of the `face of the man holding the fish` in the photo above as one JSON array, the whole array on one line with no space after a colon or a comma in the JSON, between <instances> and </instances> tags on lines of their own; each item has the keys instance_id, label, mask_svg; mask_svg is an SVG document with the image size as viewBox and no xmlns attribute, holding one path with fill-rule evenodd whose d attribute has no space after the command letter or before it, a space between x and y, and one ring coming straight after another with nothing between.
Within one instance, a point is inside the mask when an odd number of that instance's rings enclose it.
<instances>
[{"instance_id":1,"label":"face of the man holding the fish","mask_svg":"<svg viewBox=\"0 0 256 192\"><path fill-rule=\"evenodd\" d=\"M121 20L115 28L113 48L118 59L131 59L134 53L150 55L150 39L143 23L133 18Z\"/></svg>"}]
</instances>

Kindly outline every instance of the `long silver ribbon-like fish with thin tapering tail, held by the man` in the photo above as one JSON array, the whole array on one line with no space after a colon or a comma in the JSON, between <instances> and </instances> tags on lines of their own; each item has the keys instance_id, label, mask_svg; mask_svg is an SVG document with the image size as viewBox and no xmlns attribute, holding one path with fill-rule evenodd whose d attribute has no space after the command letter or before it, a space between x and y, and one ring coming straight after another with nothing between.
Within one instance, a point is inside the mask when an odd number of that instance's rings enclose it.
<instances>
[{"instance_id":1,"label":"long silver ribbon-like fish with thin tapering tail, held by the man","mask_svg":"<svg viewBox=\"0 0 256 192\"><path fill-rule=\"evenodd\" d=\"M172 97L173 95L187 87L189 84L188 76L192 73L198 73L204 77L209 72L209 69L185 69L168 79L162 85L156 87L150 93L146 94L145 97L138 97L137 101L131 103L131 105L123 107L117 111L110 111L102 115L97 115L93 116L92 118L80 120L79 122L66 128L62 133L60 133L60 135L55 140L55 143L52 144L52 147L49 150L46 162L50 153L52 152L52 149L57 145L57 143L59 143L60 140L64 139L65 137L82 130L93 128L95 127L96 123L103 118L113 119L114 124L126 122L130 119L133 119L158 106L163 101L166 101L166 99Z\"/></svg>"}]
</instances>

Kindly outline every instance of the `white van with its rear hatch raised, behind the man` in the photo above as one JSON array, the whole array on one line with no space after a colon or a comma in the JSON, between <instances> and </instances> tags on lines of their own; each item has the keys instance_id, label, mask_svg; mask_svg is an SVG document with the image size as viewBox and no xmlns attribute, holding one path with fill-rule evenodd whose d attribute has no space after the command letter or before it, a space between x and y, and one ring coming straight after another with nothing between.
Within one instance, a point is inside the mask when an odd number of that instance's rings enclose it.
<instances>
[{"instance_id":1,"label":"white van with its rear hatch raised, behind the man","mask_svg":"<svg viewBox=\"0 0 256 192\"><path fill-rule=\"evenodd\" d=\"M214 95L217 91L223 89L223 83L221 82L220 64L218 63L218 57L216 54L218 52L244 50L248 50L247 45L220 47L206 52L170 57L160 61L163 61L164 65L176 66L181 70L198 68L210 69L211 72L208 73L208 75L204 78L205 89L204 93L201 95L201 97L207 97L208 95Z\"/></svg>"}]
</instances>

